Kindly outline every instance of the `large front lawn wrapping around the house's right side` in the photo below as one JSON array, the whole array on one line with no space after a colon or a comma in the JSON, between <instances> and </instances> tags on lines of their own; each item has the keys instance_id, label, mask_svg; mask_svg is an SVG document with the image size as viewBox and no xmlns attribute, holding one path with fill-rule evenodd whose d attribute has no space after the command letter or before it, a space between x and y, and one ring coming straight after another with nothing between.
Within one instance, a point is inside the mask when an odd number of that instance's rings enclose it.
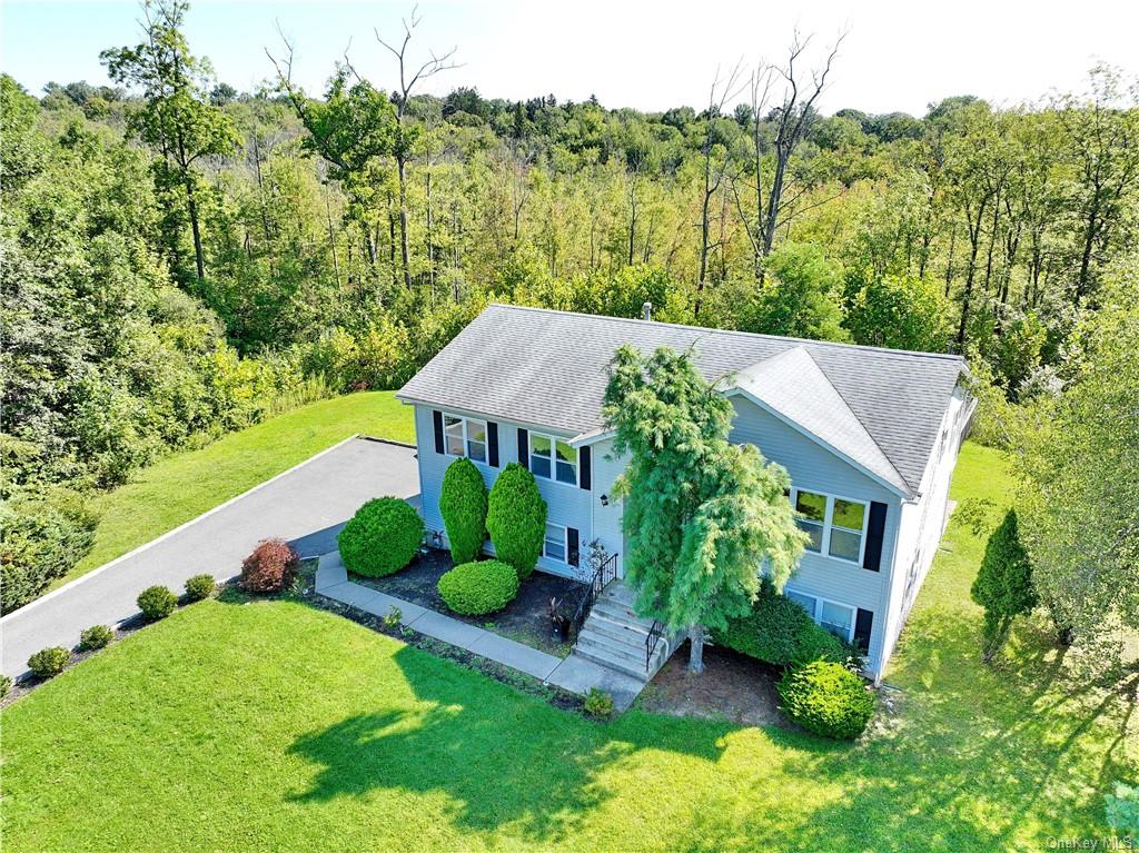
<instances>
[{"instance_id":1,"label":"large front lawn wrapping around the house's right side","mask_svg":"<svg viewBox=\"0 0 1139 853\"><path fill-rule=\"evenodd\" d=\"M958 498L1006 493L965 451ZM208 601L5 711L6 851L989 851L1098 836L1139 771L1123 690L1040 626L977 661L952 528L854 746L631 711L601 725L276 601ZM1134 684L1130 686L1134 689ZM1129 728L1130 727L1130 728Z\"/></svg>"}]
</instances>

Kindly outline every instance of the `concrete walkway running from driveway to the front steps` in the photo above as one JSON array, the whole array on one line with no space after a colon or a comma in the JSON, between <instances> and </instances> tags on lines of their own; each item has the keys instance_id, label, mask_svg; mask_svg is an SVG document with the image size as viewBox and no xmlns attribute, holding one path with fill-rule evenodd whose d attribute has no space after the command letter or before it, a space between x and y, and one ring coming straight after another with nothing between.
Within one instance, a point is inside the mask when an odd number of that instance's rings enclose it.
<instances>
[{"instance_id":1,"label":"concrete walkway running from driveway to the front steps","mask_svg":"<svg viewBox=\"0 0 1139 853\"><path fill-rule=\"evenodd\" d=\"M388 596L349 580L337 551L326 553L317 566L317 592L375 616L400 609L402 624L427 637L458 646L511 669L533 675L546 684L584 696L590 688L605 690L617 711L632 705L644 682L576 655L555 657L521 642L485 631L411 601Z\"/></svg>"}]
</instances>

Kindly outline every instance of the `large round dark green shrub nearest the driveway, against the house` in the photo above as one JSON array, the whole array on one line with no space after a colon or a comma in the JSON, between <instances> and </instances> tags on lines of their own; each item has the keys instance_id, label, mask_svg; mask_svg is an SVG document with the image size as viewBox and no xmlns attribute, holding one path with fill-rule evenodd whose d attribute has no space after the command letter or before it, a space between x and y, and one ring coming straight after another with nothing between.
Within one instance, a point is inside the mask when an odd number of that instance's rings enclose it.
<instances>
[{"instance_id":1,"label":"large round dark green shrub nearest the driveway, against the house","mask_svg":"<svg viewBox=\"0 0 1139 853\"><path fill-rule=\"evenodd\" d=\"M411 561L423 538L423 518L407 501L375 498L357 510L336 543L349 572L384 577Z\"/></svg>"}]
</instances>

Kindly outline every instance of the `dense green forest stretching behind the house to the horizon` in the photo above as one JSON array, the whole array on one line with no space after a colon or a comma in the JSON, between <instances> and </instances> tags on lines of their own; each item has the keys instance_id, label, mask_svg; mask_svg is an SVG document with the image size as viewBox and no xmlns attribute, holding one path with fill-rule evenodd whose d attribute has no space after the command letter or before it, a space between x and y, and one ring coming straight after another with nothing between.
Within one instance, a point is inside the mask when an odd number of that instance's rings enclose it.
<instances>
[{"instance_id":1,"label":"dense green forest stretching behind the house to the horizon","mask_svg":"<svg viewBox=\"0 0 1139 853\"><path fill-rule=\"evenodd\" d=\"M305 92L282 43L238 92L187 11L145 3L140 43L101 55L110 87L0 77L5 609L89 546L89 490L398 387L489 301L962 353L978 435L1006 445L1121 337L1133 379L1139 88L1120 71L1013 107L823 115L838 46L795 38L705 104L642 113L484 97L411 19L374 48L387 79L345 58Z\"/></svg>"}]
</instances>

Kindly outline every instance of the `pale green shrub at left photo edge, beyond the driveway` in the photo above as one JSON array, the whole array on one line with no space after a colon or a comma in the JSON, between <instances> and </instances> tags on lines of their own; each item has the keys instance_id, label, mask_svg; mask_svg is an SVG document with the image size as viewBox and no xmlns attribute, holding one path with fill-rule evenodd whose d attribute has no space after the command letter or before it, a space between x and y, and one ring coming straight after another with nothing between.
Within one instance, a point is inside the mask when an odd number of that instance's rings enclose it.
<instances>
[{"instance_id":1,"label":"pale green shrub at left photo edge, beyond the driveway","mask_svg":"<svg viewBox=\"0 0 1139 853\"><path fill-rule=\"evenodd\" d=\"M91 550L96 516L74 492L21 489L0 501L0 610L42 594Z\"/></svg>"}]
</instances>

